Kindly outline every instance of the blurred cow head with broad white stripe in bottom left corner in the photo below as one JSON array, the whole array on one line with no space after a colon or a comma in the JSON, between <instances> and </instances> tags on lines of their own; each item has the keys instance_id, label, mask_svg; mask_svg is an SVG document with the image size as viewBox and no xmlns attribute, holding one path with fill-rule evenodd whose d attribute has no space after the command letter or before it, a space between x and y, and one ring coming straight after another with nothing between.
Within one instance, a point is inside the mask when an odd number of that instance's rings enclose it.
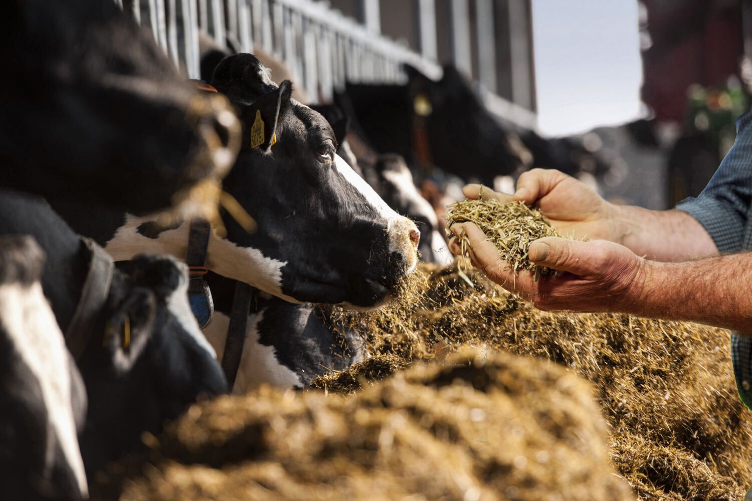
<instances>
[{"instance_id":1,"label":"blurred cow head with broad white stripe in bottom left corner","mask_svg":"<svg viewBox=\"0 0 752 501\"><path fill-rule=\"evenodd\" d=\"M83 499L77 432L86 391L39 282L32 237L0 237L0 484L3 499Z\"/></svg>"}]
</instances>

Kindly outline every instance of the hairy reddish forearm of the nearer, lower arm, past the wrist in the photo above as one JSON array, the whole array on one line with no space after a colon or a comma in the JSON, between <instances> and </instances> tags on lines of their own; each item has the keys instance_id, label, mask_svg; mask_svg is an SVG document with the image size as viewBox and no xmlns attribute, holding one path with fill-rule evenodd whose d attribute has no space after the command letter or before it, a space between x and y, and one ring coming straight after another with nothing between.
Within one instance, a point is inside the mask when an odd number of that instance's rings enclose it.
<instances>
[{"instance_id":1,"label":"hairy reddish forearm of the nearer, lower arm, past the wrist","mask_svg":"<svg viewBox=\"0 0 752 501\"><path fill-rule=\"evenodd\" d=\"M630 313L752 333L752 252L682 263L644 261Z\"/></svg>"}]
</instances>

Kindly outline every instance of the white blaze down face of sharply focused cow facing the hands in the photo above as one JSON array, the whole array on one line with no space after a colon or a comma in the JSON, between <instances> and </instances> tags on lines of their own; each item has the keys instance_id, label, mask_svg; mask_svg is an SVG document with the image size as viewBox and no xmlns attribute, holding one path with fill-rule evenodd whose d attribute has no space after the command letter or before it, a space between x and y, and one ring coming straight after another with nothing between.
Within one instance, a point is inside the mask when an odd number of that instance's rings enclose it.
<instances>
[{"instance_id":1,"label":"white blaze down face of sharply focused cow facing the hands","mask_svg":"<svg viewBox=\"0 0 752 501\"><path fill-rule=\"evenodd\" d=\"M400 216L389 207L378 193L371 188L371 185L356 174L353 168L340 155L335 155L335 165L337 171L365 198L368 205L373 207L376 213L384 218L387 223L387 234L389 235L389 251L402 254L405 258L405 264L407 264L407 270L405 271L406 273L411 273L415 270L418 263L416 248L410 240L410 232L418 231L415 223L404 216Z\"/></svg>"}]
</instances>

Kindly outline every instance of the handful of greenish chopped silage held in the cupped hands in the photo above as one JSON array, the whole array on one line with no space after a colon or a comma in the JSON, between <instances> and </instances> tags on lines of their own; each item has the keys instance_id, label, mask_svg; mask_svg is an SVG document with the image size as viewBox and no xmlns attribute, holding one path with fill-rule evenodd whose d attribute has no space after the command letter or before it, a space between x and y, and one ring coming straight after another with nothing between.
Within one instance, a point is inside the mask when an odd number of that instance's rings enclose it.
<instances>
[{"instance_id":1,"label":"handful of greenish chopped silage held in the cupped hands","mask_svg":"<svg viewBox=\"0 0 752 501\"><path fill-rule=\"evenodd\" d=\"M530 243L538 238L559 237L541 211L523 202L490 200L464 200L451 204L447 213L447 234L456 222L473 222L486 234L487 239L499 249L502 259L509 263L514 273L530 270L535 279L549 276L553 270L532 263L528 256ZM460 241L462 255L466 255L467 238Z\"/></svg>"}]
</instances>

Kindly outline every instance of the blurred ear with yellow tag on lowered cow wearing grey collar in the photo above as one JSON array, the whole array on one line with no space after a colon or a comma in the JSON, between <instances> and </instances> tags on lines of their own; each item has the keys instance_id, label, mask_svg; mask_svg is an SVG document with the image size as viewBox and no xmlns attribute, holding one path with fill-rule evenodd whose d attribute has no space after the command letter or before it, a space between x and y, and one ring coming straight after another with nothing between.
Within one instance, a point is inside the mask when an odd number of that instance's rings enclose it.
<instances>
[{"instance_id":1,"label":"blurred ear with yellow tag on lowered cow wearing grey collar","mask_svg":"<svg viewBox=\"0 0 752 501\"><path fill-rule=\"evenodd\" d=\"M132 287L105 324L102 344L119 374L127 373L149 342L156 316L156 298L146 288Z\"/></svg>"}]
</instances>

